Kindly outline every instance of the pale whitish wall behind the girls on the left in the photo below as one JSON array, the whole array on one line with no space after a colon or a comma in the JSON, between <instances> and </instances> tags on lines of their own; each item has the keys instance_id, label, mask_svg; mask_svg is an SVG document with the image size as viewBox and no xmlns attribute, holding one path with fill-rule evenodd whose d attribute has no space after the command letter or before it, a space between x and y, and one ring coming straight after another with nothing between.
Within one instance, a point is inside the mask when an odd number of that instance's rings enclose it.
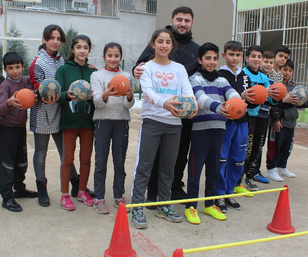
<instances>
[{"instance_id":1,"label":"pale whitish wall behind the girls on the left","mask_svg":"<svg viewBox=\"0 0 308 257\"><path fill-rule=\"evenodd\" d=\"M91 39L94 48L90 59L100 59L105 44L113 41L122 45L124 60L137 61L155 30L156 16L153 13L122 10L119 11L119 17L106 17L9 8L7 30L12 20L15 20L25 38L42 38L44 28L51 23L63 29L72 24L79 34ZM0 19L0 35L3 36L3 17ZM27 46L32 60L38 44L31 42Z\"/></svg>"}]
</instances>

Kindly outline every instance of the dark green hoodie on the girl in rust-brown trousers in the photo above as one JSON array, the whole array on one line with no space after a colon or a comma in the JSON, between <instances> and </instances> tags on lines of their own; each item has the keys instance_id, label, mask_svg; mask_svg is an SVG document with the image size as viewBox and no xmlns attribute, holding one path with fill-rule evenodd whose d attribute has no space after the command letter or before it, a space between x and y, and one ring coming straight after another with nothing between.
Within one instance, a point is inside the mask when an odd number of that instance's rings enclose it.
<instances>
[{"instance_id":1,"label":"dark green hoodie on the girl in rust-brown trousers","mask_svg":"<svg viewBox=\"0 0 308 257\"><path fill-rule=\"evenodd\" d=\"M85 80L90 83L90 76L94 69L88 64L80 66L74 61L67 61L56 74L56 80L60 83L61 94L57 103L61 104L60 130L94 128L92 121L95 106L93 101L67 100L66 94L71 84L77 80Z\"/></svg>"}]
</instances>

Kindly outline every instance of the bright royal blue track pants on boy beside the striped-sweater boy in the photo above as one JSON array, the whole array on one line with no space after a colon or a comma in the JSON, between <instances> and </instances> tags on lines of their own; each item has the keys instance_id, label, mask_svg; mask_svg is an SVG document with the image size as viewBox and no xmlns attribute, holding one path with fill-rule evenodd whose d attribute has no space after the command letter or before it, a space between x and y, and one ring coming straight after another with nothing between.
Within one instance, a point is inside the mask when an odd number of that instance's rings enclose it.
<instances>
[{"instance_id":1,"label":"bright royal blue track pants on boy beside the striped-sweater boy","mask_svg":"<svg viewBox=\"0 0 308 257\"><path fill-rule=\"evenodd\" d=\"M223 149L219 160L216 195L232 194L241 177L247 149L247 122L226 122ZM227 169L226 169L227 167Z\"/></svg>"}]
</instances>

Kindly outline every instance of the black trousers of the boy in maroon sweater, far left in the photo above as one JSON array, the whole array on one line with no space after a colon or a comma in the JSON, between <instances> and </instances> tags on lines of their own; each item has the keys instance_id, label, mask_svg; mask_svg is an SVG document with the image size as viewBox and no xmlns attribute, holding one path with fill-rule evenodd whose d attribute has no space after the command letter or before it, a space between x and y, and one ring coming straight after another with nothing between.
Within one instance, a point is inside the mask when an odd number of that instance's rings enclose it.
<instances>
[{"instance_id":1,"label":"black trousers of the boy in maroon sweater, far left","mask_svg":"<svg viewBox=\"0 0 308 257\"><path fill-rule=\"evenodd\" d=\"M3 199L13 197L15 190L26 188L23 183L28 168L26 127L0 125L0 191Z\"/></svg>"}]
</instances>

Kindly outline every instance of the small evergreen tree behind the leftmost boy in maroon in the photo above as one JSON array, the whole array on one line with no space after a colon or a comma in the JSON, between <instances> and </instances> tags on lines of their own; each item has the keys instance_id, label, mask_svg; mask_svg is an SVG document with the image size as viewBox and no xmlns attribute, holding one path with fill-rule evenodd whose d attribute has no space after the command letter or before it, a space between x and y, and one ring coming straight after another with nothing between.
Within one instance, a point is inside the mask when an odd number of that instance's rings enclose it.
<instances>
[{"instance_id":1,"label":"small evergreen tree behind the leftmost boy in maroon","mask_svg":"<svg viewBox=\"0 0 308 257\"><path fill-rule=\"evenodd\" d=\"M16 27L16 23L13 20L9 31L7 32L7 36L8 37L20 37L21 36L21 32L20 30L17 29ZM1 48L2 50L2 48ZM17 40L7 40L6 41L6 50L7 52L17 52L18 54L21 55L22 59L23 59L23 64L25 66L22 75L28 75L29 74L29 66L30 66L30 59L29 59L29 48L27 46L24 45L23 41L17 41Z\"/></svg>"}]
</instances>

